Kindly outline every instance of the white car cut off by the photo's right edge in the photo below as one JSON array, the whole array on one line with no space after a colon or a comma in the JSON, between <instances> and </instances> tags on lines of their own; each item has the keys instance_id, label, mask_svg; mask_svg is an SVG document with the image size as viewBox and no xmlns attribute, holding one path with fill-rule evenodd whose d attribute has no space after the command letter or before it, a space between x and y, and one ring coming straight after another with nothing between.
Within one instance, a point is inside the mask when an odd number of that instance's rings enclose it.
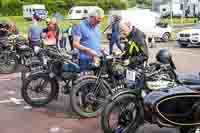
<instances>
[{"instance_id":1,"label":"white car cut off by the photo's right edge","mask_svg":"<svg viewBox=\"0 0 200 133\"><path fill-rule=\"evenodd\" d=\"M195 25L192 29L183 30L178 32L177 42L181 47L187 47L188 45L200 45L200 25Z\"/></svg>"}]
</instances>

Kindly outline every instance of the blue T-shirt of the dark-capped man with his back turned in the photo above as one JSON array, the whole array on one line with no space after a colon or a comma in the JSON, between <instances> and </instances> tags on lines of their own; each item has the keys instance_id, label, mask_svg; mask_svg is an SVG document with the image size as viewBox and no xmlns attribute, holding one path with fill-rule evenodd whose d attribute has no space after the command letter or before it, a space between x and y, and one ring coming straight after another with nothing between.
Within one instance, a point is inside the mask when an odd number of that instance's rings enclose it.
<instances>
[{"instance_id":1,"label":"blue T-shirt of the dark-capped man with his back turned","mask_svg":"<svg viewBox=\"0 0 200 133\"><path fill-rule=\"evenodd\" d=\"M38 23L34 22L28 29L29 39L33 42L40 41L42 35L42 27Z\"/></svg>"}]
</instances>

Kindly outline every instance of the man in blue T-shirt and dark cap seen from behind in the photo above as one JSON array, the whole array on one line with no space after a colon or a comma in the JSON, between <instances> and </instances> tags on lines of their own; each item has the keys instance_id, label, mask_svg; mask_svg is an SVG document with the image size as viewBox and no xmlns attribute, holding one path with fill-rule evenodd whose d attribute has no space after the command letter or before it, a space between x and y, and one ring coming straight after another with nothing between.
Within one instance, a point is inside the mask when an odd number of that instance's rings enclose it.
<instances>
[{"instance_id":1,"label":"man in blue T-shirt and dark cap seen from behind","mask_svg":"<svg viewBox=\"0 0 200 133\"><path fill-rule=\"evenodd\" d=\"M32 48L41 45L42 27L39 25L39 21L39 15L37 13L34 13L32 24L28 28L28 40Z\"/></svg>"}]
</instances>

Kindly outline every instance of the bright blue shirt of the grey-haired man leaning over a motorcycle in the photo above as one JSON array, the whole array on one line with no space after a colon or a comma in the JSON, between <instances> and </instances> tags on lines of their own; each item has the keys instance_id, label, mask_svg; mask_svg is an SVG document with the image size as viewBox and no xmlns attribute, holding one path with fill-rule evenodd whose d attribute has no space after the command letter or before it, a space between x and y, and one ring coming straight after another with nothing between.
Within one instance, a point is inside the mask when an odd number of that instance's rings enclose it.
<instances>
[{"instance_id":1,"label":"bright blue shirt of the grey-haired man leaning over a motorcycle","mask_svg":"<svg viewBox=\"0 0 200 133\"><path fill-rule=\"evenodd\" d=\"M100 54L101 32L99 26L92 27L87 19L73 28L73 36L80 37L80 44ZM80 59L91 60L91 56L80 51Z\"/></svg>"}]
</instances>

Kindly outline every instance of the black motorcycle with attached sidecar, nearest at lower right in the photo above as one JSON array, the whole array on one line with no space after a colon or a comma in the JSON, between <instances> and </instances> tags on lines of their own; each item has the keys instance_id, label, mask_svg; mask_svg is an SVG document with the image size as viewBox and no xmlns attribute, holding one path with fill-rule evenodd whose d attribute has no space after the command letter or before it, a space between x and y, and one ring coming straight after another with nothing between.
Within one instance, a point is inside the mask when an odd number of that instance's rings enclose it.
<instances>
[{"instance_id":1,"label":"black motorcycle with attached sidecar, nearest at lower right","mask_svg":"<svg viewBox=\"0 0 200 133\"><path fill-rule=\"evenodd\" d=\"M171 82L174 85L160 87L162 82L143 72L136 71L135 76L143 81L144 86L119 92L105 106L101 113L103 131L132 133L148 122L160 127L179 128L181 133L197 133L200 126L199 80L180 80L176 75L176 82Z\"/></svg>"}]
</instances>

